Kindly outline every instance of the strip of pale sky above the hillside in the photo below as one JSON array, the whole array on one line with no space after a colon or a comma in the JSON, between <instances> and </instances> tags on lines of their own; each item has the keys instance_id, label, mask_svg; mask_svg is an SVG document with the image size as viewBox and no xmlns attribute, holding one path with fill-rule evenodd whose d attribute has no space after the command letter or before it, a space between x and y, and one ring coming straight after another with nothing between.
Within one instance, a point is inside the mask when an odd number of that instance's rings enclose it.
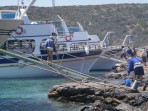
<instances>
[{"instance_id":1,"label":"strip of pale sky above the hillside","mask_svg":"<svg viewBox=\"0 0 148 111\"><path fill-rule=\"evenodd\" d=\"M21 1L21 0L20 0ZM24 0L27 5L31 0ZM0 0L0 6L17 5L18 0ZM55 6L148 3L148 0L55 0ZM36 0L34 6L51 7L52 0Z\"/></svg>"}]
</instances>

